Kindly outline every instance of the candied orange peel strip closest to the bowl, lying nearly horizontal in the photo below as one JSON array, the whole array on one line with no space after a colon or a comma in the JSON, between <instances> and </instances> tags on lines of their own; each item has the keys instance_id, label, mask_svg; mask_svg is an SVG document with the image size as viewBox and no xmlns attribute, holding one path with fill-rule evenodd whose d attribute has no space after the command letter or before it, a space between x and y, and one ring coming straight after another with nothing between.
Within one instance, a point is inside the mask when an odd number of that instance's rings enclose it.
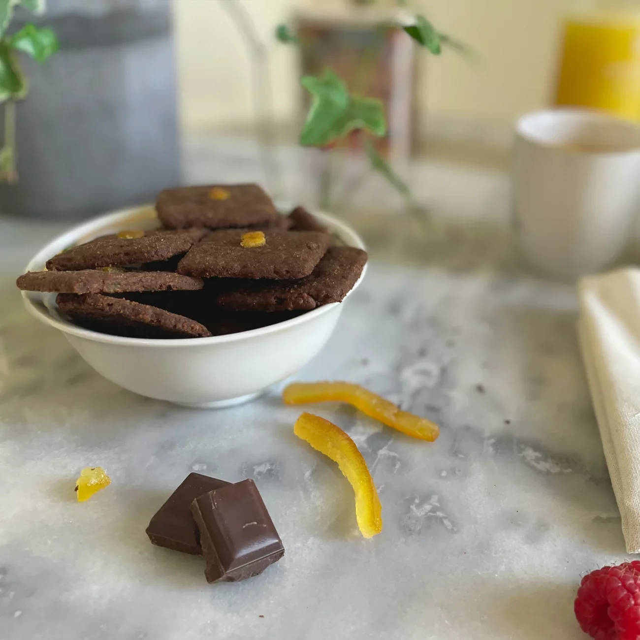
<instances>
[{"instance_id":1,"label":"candied orange peel strip closest to the bowl, lying nearly horizontal","mask_svg":"<svg viewBox=\"0 0 640 640\"><path fill-rule=\"evenodd\" d=\"M412 438L433 442L440 435L438 425L431 420L401 411L394 403L351 382L294 382L282 397L287 404L345 402Z\"/></svg>"}]
</instances>

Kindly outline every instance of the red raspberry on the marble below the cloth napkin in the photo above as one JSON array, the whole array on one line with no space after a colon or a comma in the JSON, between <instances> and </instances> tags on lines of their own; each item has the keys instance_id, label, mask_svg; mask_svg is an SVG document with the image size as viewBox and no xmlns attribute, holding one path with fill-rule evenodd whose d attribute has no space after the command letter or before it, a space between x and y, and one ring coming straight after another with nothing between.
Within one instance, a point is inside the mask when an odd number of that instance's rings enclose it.
<instances>
[{"instance_id":1,"label":"red raspberry on the marble below the cloth napkin","mask_svg":"<svg viewBox=\"0 0 640 640\"><path fill-rule=\"evenodd\" d=\"M595 640L640 640L640 560L582 578L573 611Z\"/></svg>"}]
</instances>

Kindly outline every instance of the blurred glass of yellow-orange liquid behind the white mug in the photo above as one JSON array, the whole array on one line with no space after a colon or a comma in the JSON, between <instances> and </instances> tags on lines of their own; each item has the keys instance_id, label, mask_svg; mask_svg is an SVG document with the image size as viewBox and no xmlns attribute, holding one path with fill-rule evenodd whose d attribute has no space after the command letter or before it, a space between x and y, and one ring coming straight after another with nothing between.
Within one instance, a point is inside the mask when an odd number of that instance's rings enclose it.
<instances>
[{"instance_id":1,"label":"blurred glass of yellow-orange liquid behind the white mug","mask_svg":"<svg viewBox=\"0 0 640 640\"><path fill-rule=\"evenodd\" d=\"M640 0L582 5L564 21L556 104L640 120Z\"/></svg>"}]
</instances>

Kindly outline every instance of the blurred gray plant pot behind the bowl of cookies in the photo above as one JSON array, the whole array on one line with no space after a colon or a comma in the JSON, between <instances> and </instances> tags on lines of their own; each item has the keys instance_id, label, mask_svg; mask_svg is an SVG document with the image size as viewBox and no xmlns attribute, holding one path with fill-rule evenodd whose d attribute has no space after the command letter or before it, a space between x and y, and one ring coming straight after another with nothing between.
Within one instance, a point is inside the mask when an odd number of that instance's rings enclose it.
<instances>
[{"instance_id":1,"label":"blurred gray plant pot behind the bowl of cookies","mask_svg":"<svg viewBox=\"0 0 640 640\"><path fill-rule=\"evenodd\" d=\"M1 212L79 218L180 183L171 4L49 0L32 20L56 30L61 50L42 66L20 56L31 90Z\"/></svg>"}]
</instances>

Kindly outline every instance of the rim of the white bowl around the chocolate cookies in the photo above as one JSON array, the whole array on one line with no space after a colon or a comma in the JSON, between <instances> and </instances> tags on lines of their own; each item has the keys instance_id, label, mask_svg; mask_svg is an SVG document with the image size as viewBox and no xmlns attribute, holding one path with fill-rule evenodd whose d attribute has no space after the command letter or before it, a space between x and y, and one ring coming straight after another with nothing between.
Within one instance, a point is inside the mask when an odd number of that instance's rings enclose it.
<instances>
[{"instance_id":1,"label":"rim of the white bowl around the chocolate cookies","mask_svg":"<svg viewBox=\"0 0 640 640\"><path fill-rule=\"evenodd\" d=\"M287 209L287 207L279 207L280 209ZM335 232L340 239L342 239L348 246L355 246L359 249L365 249L364 241L362 238L356 233L356 231L349 227L346 223L338 220L335 216L332 216L324 211L312 211L314 216L319 218L323 223L325 223L330 230ZM122 209L120 211L111 212L108 214L103 214L101 216L97 216L92 220L83 222L79 225L76 225L67 231L63 232L59 236L56 236L54 239L49 241L49 243L45 244L34 256L26 266L25 273L27 271L40 271L44 268L44 263L56 253L60 253L63 248L69 246L70 244L76 244L81 241L89 241L93 237L97 237L102 233L109 231L113 232L116 228L120 228L120 230L124 228L131 228L131 222L140 222L142 225L145 223L148 226L148 223L152 223L152 221L157 220L156 209L154 205L141 205L138 207L131 207L129 209ZM120 226L121 224L128 223L125 226ZM357 287L362 282L366 272L367 272L368 263L365 264L364 269L362 269L362 274L360 274L360 278L356 281L356 284L353 285L351 291L345 296L344 300L348 298L353 291L357 289ZM21 291L22 300L27 308L28 312L35 316L42 323L49 324L59 331L73 335L79 338L83 338L86 340L92 340L93 342L104 342L107 344L114 344L120 346L140 346L140 347L159 347L162 346L164 348L175 348L175 347L205 347L216 344L228 344L230 342L238 342L240 340L250 340L256 337L261 337L264 335L269 335L271 333L278 333L282 331L286 331L290 328L294 328L300 324L305 324L313 321L317 317L323 316L324 314L328 314L332 312L338 305L342 304L339 302L333 302L328 305L323 305L322 307L317 307L311 311L308 311L301 316L297 316L291 318L290 320L285 320L276 324L269 324L269 326L260 327L258 329L252 329L250 331L244 331L240 333L230 333L228 335L214 335L207 338L168 338L168 339L156 339L156 338L129 338L118 335L110 335L109 333L100 333L96 331L92 331L90 329L84 329L76 324L72 324L67 319L63 318L58 314L57 307L51 308L46 303L36 304L36 297L40 296L40 300L42 300L42 296L47 296L47 294L42 294L40 292L34 291ZM49 294L49 296L55 294ZM344 300L342 302L344 302ZM53 316L52 314L56 314Z\"/></svg>"}]
</instances>

